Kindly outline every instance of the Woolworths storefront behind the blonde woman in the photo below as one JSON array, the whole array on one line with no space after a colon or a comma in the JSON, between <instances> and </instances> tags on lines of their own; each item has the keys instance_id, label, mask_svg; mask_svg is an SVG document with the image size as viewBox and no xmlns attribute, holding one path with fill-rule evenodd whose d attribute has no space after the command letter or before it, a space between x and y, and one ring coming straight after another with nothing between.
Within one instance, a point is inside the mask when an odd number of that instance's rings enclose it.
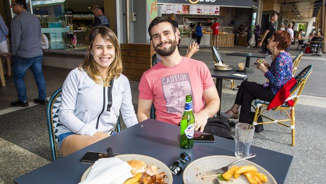
<instances>
[{"instance_id":1,"label":"Woolworths storefront behind the blonde woman","mask_svg":"<svg viewBox=\"0 0 326 184\"><path fill-rule=\"evenodd\" d=\"M28 0L27 0L28 1ZM80 49L87 47L85 37L92 28L94 15L88 0L29 0L33 14L40 20L42 33L49 40L49 49ZM103 7L103 1L96 5ZM69 23L69 20L72 23ZM73 38L73 39L72 39Z\"/></svg>"}]
</instances>

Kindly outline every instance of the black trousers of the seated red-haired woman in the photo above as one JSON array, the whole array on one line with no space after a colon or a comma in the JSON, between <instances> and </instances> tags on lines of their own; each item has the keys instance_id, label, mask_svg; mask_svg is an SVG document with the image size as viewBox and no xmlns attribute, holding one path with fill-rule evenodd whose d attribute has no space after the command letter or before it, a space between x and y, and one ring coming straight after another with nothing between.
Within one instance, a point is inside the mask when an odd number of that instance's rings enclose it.
<instances>
[{"instance_id":1,"label":"black trousers of the seated red-haired woman","mask_svg":"<svg viewBox=\"0 0 326 184\"><path fill-rule=\"evenodd\" d=\"M234 104L240 105L240 123L249 123L251 103L255 99L270 102L275 95L269 87L263 87L256 82L243 81L237 93Z\"/></svg>"}]
</instances>

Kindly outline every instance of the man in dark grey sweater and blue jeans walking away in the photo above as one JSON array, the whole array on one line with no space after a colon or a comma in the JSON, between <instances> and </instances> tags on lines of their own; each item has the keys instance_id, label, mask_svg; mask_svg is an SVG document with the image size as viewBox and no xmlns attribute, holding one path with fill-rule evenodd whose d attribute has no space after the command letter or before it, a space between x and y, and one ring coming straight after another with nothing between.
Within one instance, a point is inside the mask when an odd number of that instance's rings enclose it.
<instances>
[{"instance_id":1,"label":"man in dark grey sweater and blue jeans walking away","mask_svg":"<svg viewBox=\"0 0 326 184\"><path fill-rule=\"evenodd\" d=\"M45 79L42 72L43 52L41 48L41 24L38 18L27 12L25 0L12 0L10 6L13 13L17 14L12 20L12 54L14 81L17 90L18 101L12 102L14 107L28 107L24 76L31 68L36 84L39 88L39 96L34 103L47 104Z\"/></svg>"}]
</instances>

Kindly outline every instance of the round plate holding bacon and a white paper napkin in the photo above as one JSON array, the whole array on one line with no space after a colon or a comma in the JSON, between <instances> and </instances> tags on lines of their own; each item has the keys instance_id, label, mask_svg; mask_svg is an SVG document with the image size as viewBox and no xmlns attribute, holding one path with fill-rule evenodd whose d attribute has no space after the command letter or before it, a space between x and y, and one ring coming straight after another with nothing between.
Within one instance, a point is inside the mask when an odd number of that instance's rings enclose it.
<instances>
[{"instance_id":1,"label":"round plate holding bacon and a white paper napkin","mask_svg":"<svg viewBox=\"0 0 326 184\"><path fill-rule=\"evenodd\" d=\"M169 167L164 164L163 162L157 160L156 158L146 156L146 155L138 155L138 154L123 154L123 155L116 155L115 157L120 158L123 161L129 161L129 160L140 160L145 162L147 165L156 165L158 167L158 173L165 172L168 178L164 180L164 182L172 184L173 182L173 175ZM88 167L84 174L82 175L80 181L83 181L86 179L89 171L91 170L93 165Z\"/></svg>"}]
</instances>

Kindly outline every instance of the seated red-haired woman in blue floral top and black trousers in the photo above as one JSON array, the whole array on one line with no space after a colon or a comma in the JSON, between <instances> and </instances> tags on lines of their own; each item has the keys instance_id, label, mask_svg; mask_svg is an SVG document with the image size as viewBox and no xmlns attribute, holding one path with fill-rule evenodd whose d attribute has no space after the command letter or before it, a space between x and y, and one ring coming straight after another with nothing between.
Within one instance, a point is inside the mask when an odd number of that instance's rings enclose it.
<instances>
[{"instance_id":1,"label":"seated red-haired woman in blue floral top and black trousers","mask_svg":"<svg viewBox=\"0 0 326 184\"><path fill-rule=\"evenodd\" d=\"M240 109L240 123L249 123L251 103L255 99L270 102L273 100L278 90L292 77L292 59L285 52L291 44L291 35L287 31L276 31L268 39L267 48L272 52L274 60L269 65L265 60L258 58L257 69L264 73L269 80L264 84L243 81L237 93L234 105L227 112L221 115L231 119L238 119Z\"/></svg>"}]
</instances>

